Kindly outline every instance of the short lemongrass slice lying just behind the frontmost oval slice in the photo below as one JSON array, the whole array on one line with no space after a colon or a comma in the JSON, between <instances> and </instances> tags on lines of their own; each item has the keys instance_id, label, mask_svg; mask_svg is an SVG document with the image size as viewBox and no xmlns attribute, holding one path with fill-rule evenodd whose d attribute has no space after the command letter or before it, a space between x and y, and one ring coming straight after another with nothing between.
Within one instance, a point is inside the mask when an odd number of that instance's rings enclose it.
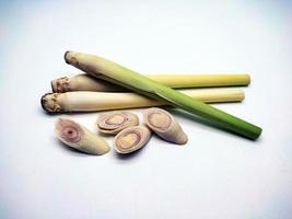
<instances>
[{"instance_id":1,"label":"short lemongrass slice lying just behind the frontmost oval slice","mask_svg":"<svg viewBox=\"0 0 292 219\"><path fill-rule=\"evenodd\" d=\"M138 116L130 112L110 112L101 115L97 119L98 130L108 135L116 135L127 127L138 125Z\"/></svg>"}]
</instances>

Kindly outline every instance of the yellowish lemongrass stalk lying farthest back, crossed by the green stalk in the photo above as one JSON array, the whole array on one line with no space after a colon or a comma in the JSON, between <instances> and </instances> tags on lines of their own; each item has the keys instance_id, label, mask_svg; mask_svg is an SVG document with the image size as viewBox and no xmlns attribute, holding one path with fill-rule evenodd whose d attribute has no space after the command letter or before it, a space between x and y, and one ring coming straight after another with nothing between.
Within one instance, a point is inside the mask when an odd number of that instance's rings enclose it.
<instances>
[{"instance_id":1,"label":"yellowish lemongrass stalk lying farthest back, crossed by the green stalk","mask_svg":"<svg viewBox=\"0 0 292 219\"><path fill-rule=\"evenodd\" d=\"M183 88L203 87L231 87L248 85L250 78L248 74L149 74L147 76L164 85ZM117 84L98 80L89 74L77 74L71 78L63 77L51 81L52 92L63 93L69 91L125 91L126 89Z\"/></svg>"}]
</instances>

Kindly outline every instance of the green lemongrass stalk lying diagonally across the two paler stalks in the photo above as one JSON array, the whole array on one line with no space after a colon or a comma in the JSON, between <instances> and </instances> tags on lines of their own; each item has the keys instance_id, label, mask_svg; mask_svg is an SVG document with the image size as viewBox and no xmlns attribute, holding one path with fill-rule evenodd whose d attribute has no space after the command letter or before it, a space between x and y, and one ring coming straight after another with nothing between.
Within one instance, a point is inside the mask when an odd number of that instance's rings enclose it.
<instances>
[{"instance_id":1,"label":"green lemongrass stalk lying diagonally across the two paler stalks","mask_svg":"<svg viewBox=\"0 0 292 219\"><path fill-rule=\"evenodd\" d=\"M200 101L192 100L182 92L162 85L142 74L102 57L67 51L65 54L65 60L67 64L70 64L93 77L119 84L156 100L164 100L173 106L183 108L246 138L257 139L261 134L261 128L250 123Z\"/></svg>"}]
</instances>

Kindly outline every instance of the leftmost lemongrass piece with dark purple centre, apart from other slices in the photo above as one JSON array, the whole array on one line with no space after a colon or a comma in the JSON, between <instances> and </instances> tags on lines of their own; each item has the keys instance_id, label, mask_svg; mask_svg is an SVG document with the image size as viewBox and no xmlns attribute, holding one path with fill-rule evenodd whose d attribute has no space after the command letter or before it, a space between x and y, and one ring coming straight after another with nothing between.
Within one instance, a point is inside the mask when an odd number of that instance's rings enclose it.
<instances>
[{"instance_id":1,"label":"leftmost lemongrass piece with dark purple centre, apart from other slices","mask_svg":"<svg viewBox=\"0 0 292 219\"><path fill-rule=\"evenodd\" d=\"M102 155L109 151L104 139L68 118L58 119L56 135L67 146L86 153Z\"/></svg>"}]
</instances>

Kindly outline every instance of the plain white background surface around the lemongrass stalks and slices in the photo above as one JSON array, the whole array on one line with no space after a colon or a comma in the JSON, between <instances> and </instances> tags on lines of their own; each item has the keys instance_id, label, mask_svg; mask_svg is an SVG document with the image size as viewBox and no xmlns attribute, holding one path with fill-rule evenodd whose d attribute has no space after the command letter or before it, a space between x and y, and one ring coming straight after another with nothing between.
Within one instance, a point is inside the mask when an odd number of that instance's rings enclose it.
<instances>
[{"instance_id":1,"label":"plain white background surface around the lemongrass stalks and slices","mask_svg":"<svg viewBox=\"0 0 292 219\"><path fill-rule=\"evenodd\" d=\"M289 1L0 2L0 218L292 217ZM78 72L66 50L139 72L248 72L221 110L264 128L250 141L172 111L186 146L155 136L127 158L62 146L39 100ZM142 110L133 111L141 116ZM93 131L98 113L65 115ZM113 138L106 138L113 146Z\"/></svg>"}]
</instances>

